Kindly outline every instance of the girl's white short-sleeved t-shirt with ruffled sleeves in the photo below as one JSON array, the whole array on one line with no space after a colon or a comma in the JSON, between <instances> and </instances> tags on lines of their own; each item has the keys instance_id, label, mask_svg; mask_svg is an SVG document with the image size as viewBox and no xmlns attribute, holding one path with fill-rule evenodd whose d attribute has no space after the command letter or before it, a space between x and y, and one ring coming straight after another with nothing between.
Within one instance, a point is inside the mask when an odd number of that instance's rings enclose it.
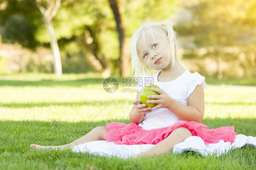
<instances>
[{"instance_id":1,"label":"girl's white short-sleeved t-shirt with ruffled sleeves","mask_svg":"<svg viewBox=\"0 0 256 170\"><path fill-rule=\"evenodd\" d=\"M190 73L185 70L182 75L173 81L159 82L157 77L160 72L144 75L136 85L138 91L141 91L143 86L148 86L154 84L163 89L172 99L177 100L183 105L188 105L188 97L194 91L195 87L202 84L203 89L206 89L207 85L205 83L205 77L201 76L199 73ZM174 115L170 110L166 108L159 108L145 114L143 121L139 124L142 129L156 129L160 127L171 126L174 123L182 121L176 115Z\"/></svg>"}]
</instances>

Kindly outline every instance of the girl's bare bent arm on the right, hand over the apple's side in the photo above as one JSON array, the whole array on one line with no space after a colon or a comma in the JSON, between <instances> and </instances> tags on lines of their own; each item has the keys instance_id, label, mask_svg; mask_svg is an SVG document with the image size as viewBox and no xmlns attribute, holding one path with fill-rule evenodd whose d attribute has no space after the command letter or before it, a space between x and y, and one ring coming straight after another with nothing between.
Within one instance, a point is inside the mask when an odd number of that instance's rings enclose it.
<instances>
[{"instance_id":1,"label":"girl's bare bent arm on the right, hand over the apple's side","mask_svg":"<svg viewBox=\"0 0 256 170\"><path fill-rule=\"evenodd\" d=\"M160 94L148 96L148 98L157 99L148 100L148 103L158 103L157 106L152 108L153 110L158 108L167 108L183 121L202 122L205 110L204 89L202 84L197 85L188 97L188 106L172 99L162 89L152 88L152 90Z\"/></svg>"}]
</instances>

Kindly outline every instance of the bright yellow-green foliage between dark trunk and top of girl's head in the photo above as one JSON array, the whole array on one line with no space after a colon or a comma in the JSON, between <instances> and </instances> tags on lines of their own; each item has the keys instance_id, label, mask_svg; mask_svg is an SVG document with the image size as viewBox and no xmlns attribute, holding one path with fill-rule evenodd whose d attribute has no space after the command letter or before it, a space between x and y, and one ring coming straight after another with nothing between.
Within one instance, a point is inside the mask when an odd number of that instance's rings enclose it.
<instances>
[{"instance_id":1,"label":"bright yellow-green foliage between dark trunk and top of girl's head","mask_svg":"<svg viewBox=\"0 0 256 170\"><path fill-rule=\"evenodd\" d=\"M180 2L180 0L120 1L127 38L148 21L159 23L170 19L175 12L181 10L178 6Z\"/></svg>"}]
</instances>

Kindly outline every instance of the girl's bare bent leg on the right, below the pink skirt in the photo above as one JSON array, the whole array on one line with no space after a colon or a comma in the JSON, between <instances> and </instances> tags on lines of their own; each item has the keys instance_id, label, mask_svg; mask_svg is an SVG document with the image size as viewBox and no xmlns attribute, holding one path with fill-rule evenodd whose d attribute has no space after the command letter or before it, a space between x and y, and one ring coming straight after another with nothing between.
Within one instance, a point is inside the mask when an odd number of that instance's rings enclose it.
<instances>
[{"instance_id":1,"label":"girl's bare bent leg on the right, below the pink skirt","mask_svg":"<svg viewBox=\"0 0 256 170\"><path fill-rule=\"evenodd\" d=\"M190 136L192 136L191 132L187 128L177 128L173 132L171 132L171 134L166 139L159 142L157 145L150 148L146 152L134 155L132 158L136 159L141 156L154 156L160 155L162 153L168 154L169 152L172 152L174 145L183 142L186 138Z\"/></svg>"}]
</instances>

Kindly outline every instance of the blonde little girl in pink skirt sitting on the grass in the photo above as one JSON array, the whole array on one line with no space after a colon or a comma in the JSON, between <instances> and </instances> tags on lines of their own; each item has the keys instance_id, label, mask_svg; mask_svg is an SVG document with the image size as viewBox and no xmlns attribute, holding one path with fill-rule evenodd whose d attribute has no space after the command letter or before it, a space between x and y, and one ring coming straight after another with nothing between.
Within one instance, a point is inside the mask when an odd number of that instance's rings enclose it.
<instances>
[{"instance_id":1,"label":"blonde little girl in pink skirt sitting on the grass","mask_svg":"<svg viewBox=\"0 0 256 170\"><path fill-rule=\"evenodd\" d=\"M174 145L190 136L201 137L205 144L220 140L234 142L233 126L208 129L201 124L204 116L205 78L199 73L190 73L182 67L177 56L177 40L172 23L147 23L132 36L130 57L133 76L142 76L137 84L141 91L147 79L160 89L152 88L160 95L149 95L147 103L156 103L153 108L140 101L140 92L132 102L129 118L132 123L106 123L106 127L94 128L85 136L66 145L40 146L31 149L73 149L76 145L96 140L107 140L116 144L155 144L154 147L134 158L169 153ZM150 74L152 70L160 70Z\"/></svg>"}]
</instances>

